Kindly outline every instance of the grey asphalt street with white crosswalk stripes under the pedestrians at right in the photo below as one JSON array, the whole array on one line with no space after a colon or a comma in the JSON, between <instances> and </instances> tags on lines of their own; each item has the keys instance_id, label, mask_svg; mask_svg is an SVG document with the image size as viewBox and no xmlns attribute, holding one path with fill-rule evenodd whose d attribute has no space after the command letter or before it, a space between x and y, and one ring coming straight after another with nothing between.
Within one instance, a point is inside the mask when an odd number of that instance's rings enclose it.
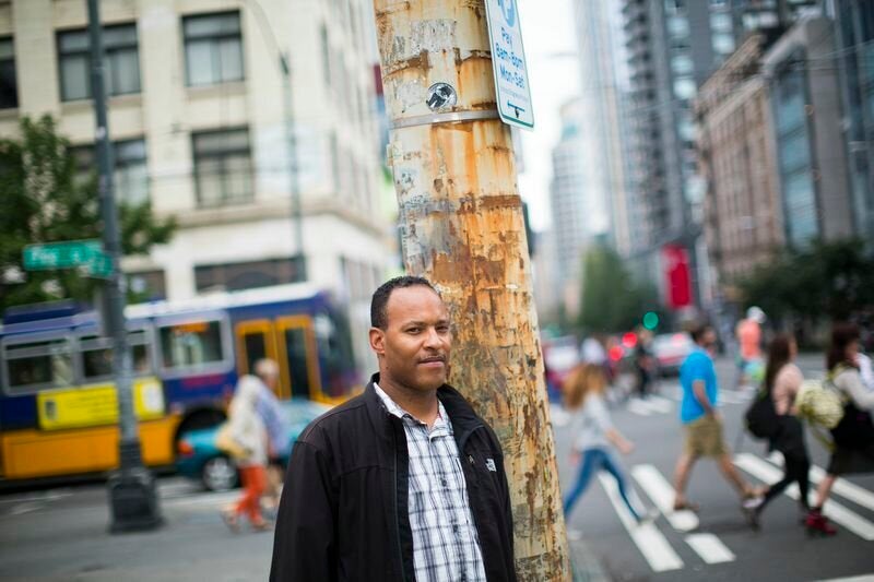
<instances>
[{"instance_id":1,"label":"grey asphalt street with white crosswalk stripes under the pedestrians at right","mask_svg":"<svg viewBox=\"0 0 874 582\"><path fill-rule=\"evenodd\" d=\"M820 357L802 358L805 375L822 373ZM732 384L729 361L718 365L723 384ZM725 433L746 478L760 483L780 474L760 442L740 441L741 417L748 394L723 390ZM677 419L676 380L662 381L661 396L650 402L630 400L615 404L613 421L636 443L623 459L640 500L653 507L670 502L676 456L682 447ZM563 488L570 487L566 427L556 429ZM814 462L824 467L827 454L808 439ZM814 477L816 473L814 472ZM772 478L772 477L771 477ZM776 499L763 516L761 531L752 532L740 510L736 495L722 479L712 461L700 461L693 471L689 499L700 504L697 518L688 512L660 513L651 525L629 523L621 503L614 503L605 484L594 480L574 509L569 528L579 532L590 551L614 580L832 580L874 573L874 475L851 476L840 494L826 506L839 533L830 538L808 537L799 524L796 501ZM609 482L606 482L609 484ZM838 507L840 506L840 507ZM669 516L671 520L669 520ZM623 520L623 518L625 518ZM695 523L697 522L697 523ZM874 577L867 580L874 580Z\"/></svg>"}]
</instances>

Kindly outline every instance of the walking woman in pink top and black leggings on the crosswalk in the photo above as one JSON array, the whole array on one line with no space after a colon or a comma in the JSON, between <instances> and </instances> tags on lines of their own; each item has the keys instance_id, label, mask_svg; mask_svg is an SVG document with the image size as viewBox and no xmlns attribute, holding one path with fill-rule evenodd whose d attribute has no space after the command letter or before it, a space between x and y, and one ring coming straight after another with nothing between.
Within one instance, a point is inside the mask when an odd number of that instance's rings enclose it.
<instances>
[{"instance_id":1,"label":"walking woman in pink top and black leggings on the crosswalk","mask_svg":"<svg viewBox=\"0 0 874 582\"><path fill-rule=\"evenodd\" d=\"M770 450L783 454L783 478L763 491L763 496L744 503L751 524L758 527L758 518L765 506L783 489L798 482L801 496L799 502L804 513L810 512L807 473L811 461L804 442L804 427L795 416L795 396L804 381L801 370L792 360L798 354L795 340L791 335L778 334L768 346L768 365L765 370L765 388L771 395L779 427L768 444Z\"/></svg>"}]
</instances>

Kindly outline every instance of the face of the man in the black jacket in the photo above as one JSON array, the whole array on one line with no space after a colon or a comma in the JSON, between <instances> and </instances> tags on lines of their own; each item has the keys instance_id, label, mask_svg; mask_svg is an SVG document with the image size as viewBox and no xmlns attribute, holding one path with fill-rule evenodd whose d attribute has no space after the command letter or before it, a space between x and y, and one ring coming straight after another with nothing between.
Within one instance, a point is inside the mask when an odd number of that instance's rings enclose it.
<instances>
[{"instance_id":1,"label":"face of the man in the black jacket","mask_svg":"<svg viewBox=\"0 0 874 582\"><path fill-rule=\"evenodd\" d=\"M437 294L423 285L394 289L386 316L385 330L370 329L382 380L422 391L446 383L452 335Z\"/></svg>"}]
</instances>

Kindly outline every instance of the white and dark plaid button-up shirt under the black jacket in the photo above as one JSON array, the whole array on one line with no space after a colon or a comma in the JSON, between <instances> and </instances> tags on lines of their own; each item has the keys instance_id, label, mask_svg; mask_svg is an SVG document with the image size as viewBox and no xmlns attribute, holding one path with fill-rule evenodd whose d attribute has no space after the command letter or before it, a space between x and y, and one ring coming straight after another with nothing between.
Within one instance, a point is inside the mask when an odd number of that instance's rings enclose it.
<instances>
[{"instance_id":1,"label":"white and dark plaid button-up shirt under the black jacket","mask_svg":"<svg viewBox=\"0 0 874 582\"><path fill-rule=\"evenodd\" d=\"M406 435L416 581L485 582L458 444L442 403L438 401L439 414L428 430L382 389L374 388L389 414L403 420Z\"/></svg>"}]
</instances>

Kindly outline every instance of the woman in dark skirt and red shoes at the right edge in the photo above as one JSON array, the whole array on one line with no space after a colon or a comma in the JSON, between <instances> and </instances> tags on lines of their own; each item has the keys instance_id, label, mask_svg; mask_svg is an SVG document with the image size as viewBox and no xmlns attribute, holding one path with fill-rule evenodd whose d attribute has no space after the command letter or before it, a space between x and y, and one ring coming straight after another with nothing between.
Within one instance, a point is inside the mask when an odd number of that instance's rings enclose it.
<instances>
[{"instance_id":1,"label":"woman in dark skirt and red shoes at the right edge","mask_svg":"<svg viewBox=\"0 0 874 582\"><path fill-rule=\"evenodd\" d=\"M830 383L843 401L843 416L831 429L835 449L828 463L825 478L816 491L816 504L807 514L807 527L834 534L822 513L823 504L831 492L835 479L846 473L858 472L860 462L874 463L874 425L871 408L874 408L874 392L870 392L859 373L859 328L851 323L838 323L831 330L831 345L826 356ZM867 467L866 467L867 468Z\"/></svg>"}]
</instances>

